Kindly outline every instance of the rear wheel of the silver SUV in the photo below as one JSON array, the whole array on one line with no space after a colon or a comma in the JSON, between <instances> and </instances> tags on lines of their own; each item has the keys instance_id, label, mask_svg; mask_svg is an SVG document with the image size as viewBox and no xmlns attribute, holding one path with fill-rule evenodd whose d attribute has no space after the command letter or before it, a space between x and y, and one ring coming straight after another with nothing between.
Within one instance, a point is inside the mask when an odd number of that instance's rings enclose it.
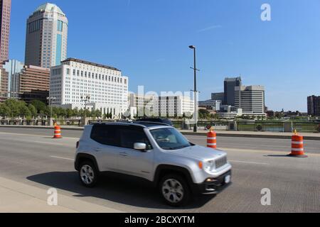
<instances>
[{"instance_id":1,"label":"rear wheel of the silver SUV","mask_svg":"<svg viewBox=\"0 0 320 227\"><path fill-rule=\"evenodd\" d=\"M84 169L88 171L86 172L87 175L85 175ZM97 171L97 168L95 167L95 165L93 165L93 163L90 161L81 162L78 174L79 174L80 182L85 187L95 187L99 179L99 172ZM91 176L91 177L87 177L87 176Z\"/></svg>"}]
</instances>

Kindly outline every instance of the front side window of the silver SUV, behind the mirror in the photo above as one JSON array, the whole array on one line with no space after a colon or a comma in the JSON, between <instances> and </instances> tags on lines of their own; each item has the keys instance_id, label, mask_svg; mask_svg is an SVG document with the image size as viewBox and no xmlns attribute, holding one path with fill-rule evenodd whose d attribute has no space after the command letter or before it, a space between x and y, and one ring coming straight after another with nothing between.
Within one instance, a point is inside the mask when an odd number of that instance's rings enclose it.
<instances>
[{"instance_id":1,"label":"front side window of the silver SUV, behind the mirror","mask_svg":"<svg viewBox=\"0 0 320 227\"><path fill-rule=\"evenodd\" d=\"M134 143L145 143L146 150L151 150L151 144L143 130L134 128L121 128L119 130L120 145L122 148L134 149Z\"/></svg>"}]
</instances>

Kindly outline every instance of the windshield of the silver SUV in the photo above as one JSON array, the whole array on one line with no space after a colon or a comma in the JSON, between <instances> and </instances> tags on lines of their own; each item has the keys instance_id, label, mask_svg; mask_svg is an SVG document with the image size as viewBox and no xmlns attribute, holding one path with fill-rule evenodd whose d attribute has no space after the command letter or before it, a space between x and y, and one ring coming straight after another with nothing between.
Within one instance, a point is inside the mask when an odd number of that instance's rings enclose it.
<instances>
[{"instance_id":1,"label":"windshield of the silver SUV","mask_svg":"<svg viewBox=\"0 0 320 227\"><path fill-rule=\"evenodd\" d=\"M158 128L150 132L159 147L164 150L177 150L191 146L191 143L176 128Z\"/></svg>"}]
</instances>

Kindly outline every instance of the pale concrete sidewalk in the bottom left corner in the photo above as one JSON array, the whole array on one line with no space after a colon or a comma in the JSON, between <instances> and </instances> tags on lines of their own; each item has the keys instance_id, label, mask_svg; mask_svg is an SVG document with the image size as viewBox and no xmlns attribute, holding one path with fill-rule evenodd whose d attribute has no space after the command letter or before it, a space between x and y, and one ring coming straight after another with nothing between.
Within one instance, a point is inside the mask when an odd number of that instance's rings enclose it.
<instances>
[{"instance_id":1,"label":"pale concrete sidewalk in the bottom left corner","mask_svg":"<svg viewBox=\"0 0 320 227\"><path fill-rule=\"evenodd\" d=\"M49 189L49 188L48 188ZM58 206L49 206L46 189L0 177L0 213L119 213L116 209L91 204L59 194Z\"/></svg>"}]
</instances>

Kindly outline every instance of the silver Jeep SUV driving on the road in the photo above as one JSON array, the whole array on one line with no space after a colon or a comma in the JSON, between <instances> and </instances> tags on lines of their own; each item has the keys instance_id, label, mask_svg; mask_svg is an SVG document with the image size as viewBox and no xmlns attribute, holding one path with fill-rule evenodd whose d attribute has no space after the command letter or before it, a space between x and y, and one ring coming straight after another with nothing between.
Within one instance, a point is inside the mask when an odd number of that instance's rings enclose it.
<instances>
[{"instance_id":1,"label":"silver Jeep SUV driving on the road","mask_svg":"<svg viewBox=\"0 0 320 227\"><path fill-rule=\"evenodd\" d=\"M142 177L171 206L186 204L191 194L217 194L231 181L226 153L194 145L176 128L151 122L85 126L75 169L86 187L93 187L101 172Z\"/></svg>"}]
</instances>

